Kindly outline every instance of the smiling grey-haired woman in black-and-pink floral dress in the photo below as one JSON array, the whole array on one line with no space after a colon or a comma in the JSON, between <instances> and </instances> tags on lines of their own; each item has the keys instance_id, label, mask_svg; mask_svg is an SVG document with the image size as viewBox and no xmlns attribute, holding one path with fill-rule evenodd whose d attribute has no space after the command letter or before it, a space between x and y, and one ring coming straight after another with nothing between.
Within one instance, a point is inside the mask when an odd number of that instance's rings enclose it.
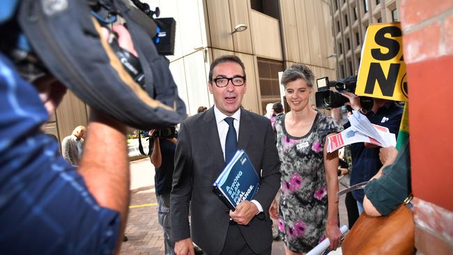
<instances>
[{"instance_id":1,"label":"smiling grey-haired woman in black-and-pink floral dress","mask_svg":"<svg viewBox=\"0 0 453 255\"><path fill-rule=\"evenodd\" d=\"M341 132L335 121L312 109L314 75L306 65L284 71L282 84L289 113L275 119L277 149L282 165L280 199L270 215L279 220L286 254L309 252L325 237L339 246L338 153L327 153L326 137Z\"/></svg>"}]
</instances>

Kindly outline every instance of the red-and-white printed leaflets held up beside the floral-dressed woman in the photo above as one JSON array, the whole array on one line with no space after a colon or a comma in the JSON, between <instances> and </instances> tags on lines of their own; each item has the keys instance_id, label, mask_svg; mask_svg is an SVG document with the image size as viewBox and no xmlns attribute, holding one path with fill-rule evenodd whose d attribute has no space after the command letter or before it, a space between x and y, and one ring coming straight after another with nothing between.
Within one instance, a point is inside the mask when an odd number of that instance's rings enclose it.
<instances>
[{"instance_id":1,"label":"red-and-white printed leaflets held up beside the floral-dressed woman","mask_svg":"<svg viewBox=\"0 0 453 255\"><path fill-rule=\"evenodd\" d=\"M397 144L395 135L390 133L387 127L371 124L367 116L360 114L358 111L353 111L353 114L348 119L351 127L328 138L329 153L348 144L361 142L382 147L395 146Z\"/></svg>"}]
</instances>

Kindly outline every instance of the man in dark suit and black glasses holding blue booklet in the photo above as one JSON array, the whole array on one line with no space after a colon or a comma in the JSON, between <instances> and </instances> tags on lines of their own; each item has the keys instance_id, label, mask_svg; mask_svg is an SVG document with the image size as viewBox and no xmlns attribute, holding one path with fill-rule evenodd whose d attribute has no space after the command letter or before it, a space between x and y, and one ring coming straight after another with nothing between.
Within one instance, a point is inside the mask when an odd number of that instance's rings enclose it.
<instances>
[{"instance_id":1,"label":"man in dark suit and black glasses holding blue booklet","mask_svg":"<svg viewBox=\"0 0 453 255\"><path fill-rule=\"evenodd\" d=\"M215 105L181 124L176 146L171 191L175 252L193 254L193 238L207 254L270 254L268 209L280 180L270 121L241 108L247 82L244 64L237 56L221 56L211 63L208 88ZM230 132L236 149L247 152L261 179L252 201L241 202L234 212L213 192L215 179L231 157Z\"/></svg>"}]
</instances>

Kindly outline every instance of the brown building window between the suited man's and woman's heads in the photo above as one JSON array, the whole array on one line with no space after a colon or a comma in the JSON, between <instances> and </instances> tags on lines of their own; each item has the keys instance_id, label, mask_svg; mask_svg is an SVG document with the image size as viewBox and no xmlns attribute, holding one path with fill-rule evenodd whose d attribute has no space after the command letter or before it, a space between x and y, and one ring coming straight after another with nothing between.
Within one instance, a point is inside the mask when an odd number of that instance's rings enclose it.
<instances>
[{"instance_id":1,"label":"brown building window between the suited man's and woman's heads","mask_svg":"<svg viewBox=\"0 0 453 255\"><path fill-rule=\"evenodd\" d=\"M270 59L258 58L259 87L261 88L261 106L266 111L268 103L280 101L280 84L278 72L282 72L283 63Z\"/></svg>"}]
</instances>

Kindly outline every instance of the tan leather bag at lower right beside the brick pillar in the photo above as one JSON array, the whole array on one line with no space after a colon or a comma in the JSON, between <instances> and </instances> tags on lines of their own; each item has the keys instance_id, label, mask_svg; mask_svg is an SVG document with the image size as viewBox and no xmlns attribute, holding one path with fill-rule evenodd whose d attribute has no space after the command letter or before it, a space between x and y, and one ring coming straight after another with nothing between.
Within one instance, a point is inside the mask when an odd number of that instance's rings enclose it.
<instances>
[{"instance_id":1,"label":"tan leather bag at lower right beside the brick pillar","mask_svg":"<svg viewBox=\"0 0 453 255\"><path fill-rule=\"evenodd\" d=\"M413 213L404 204L387 216L360 215L344 238L345 255L415 254Z\"/></svg>"}]
</instances>

